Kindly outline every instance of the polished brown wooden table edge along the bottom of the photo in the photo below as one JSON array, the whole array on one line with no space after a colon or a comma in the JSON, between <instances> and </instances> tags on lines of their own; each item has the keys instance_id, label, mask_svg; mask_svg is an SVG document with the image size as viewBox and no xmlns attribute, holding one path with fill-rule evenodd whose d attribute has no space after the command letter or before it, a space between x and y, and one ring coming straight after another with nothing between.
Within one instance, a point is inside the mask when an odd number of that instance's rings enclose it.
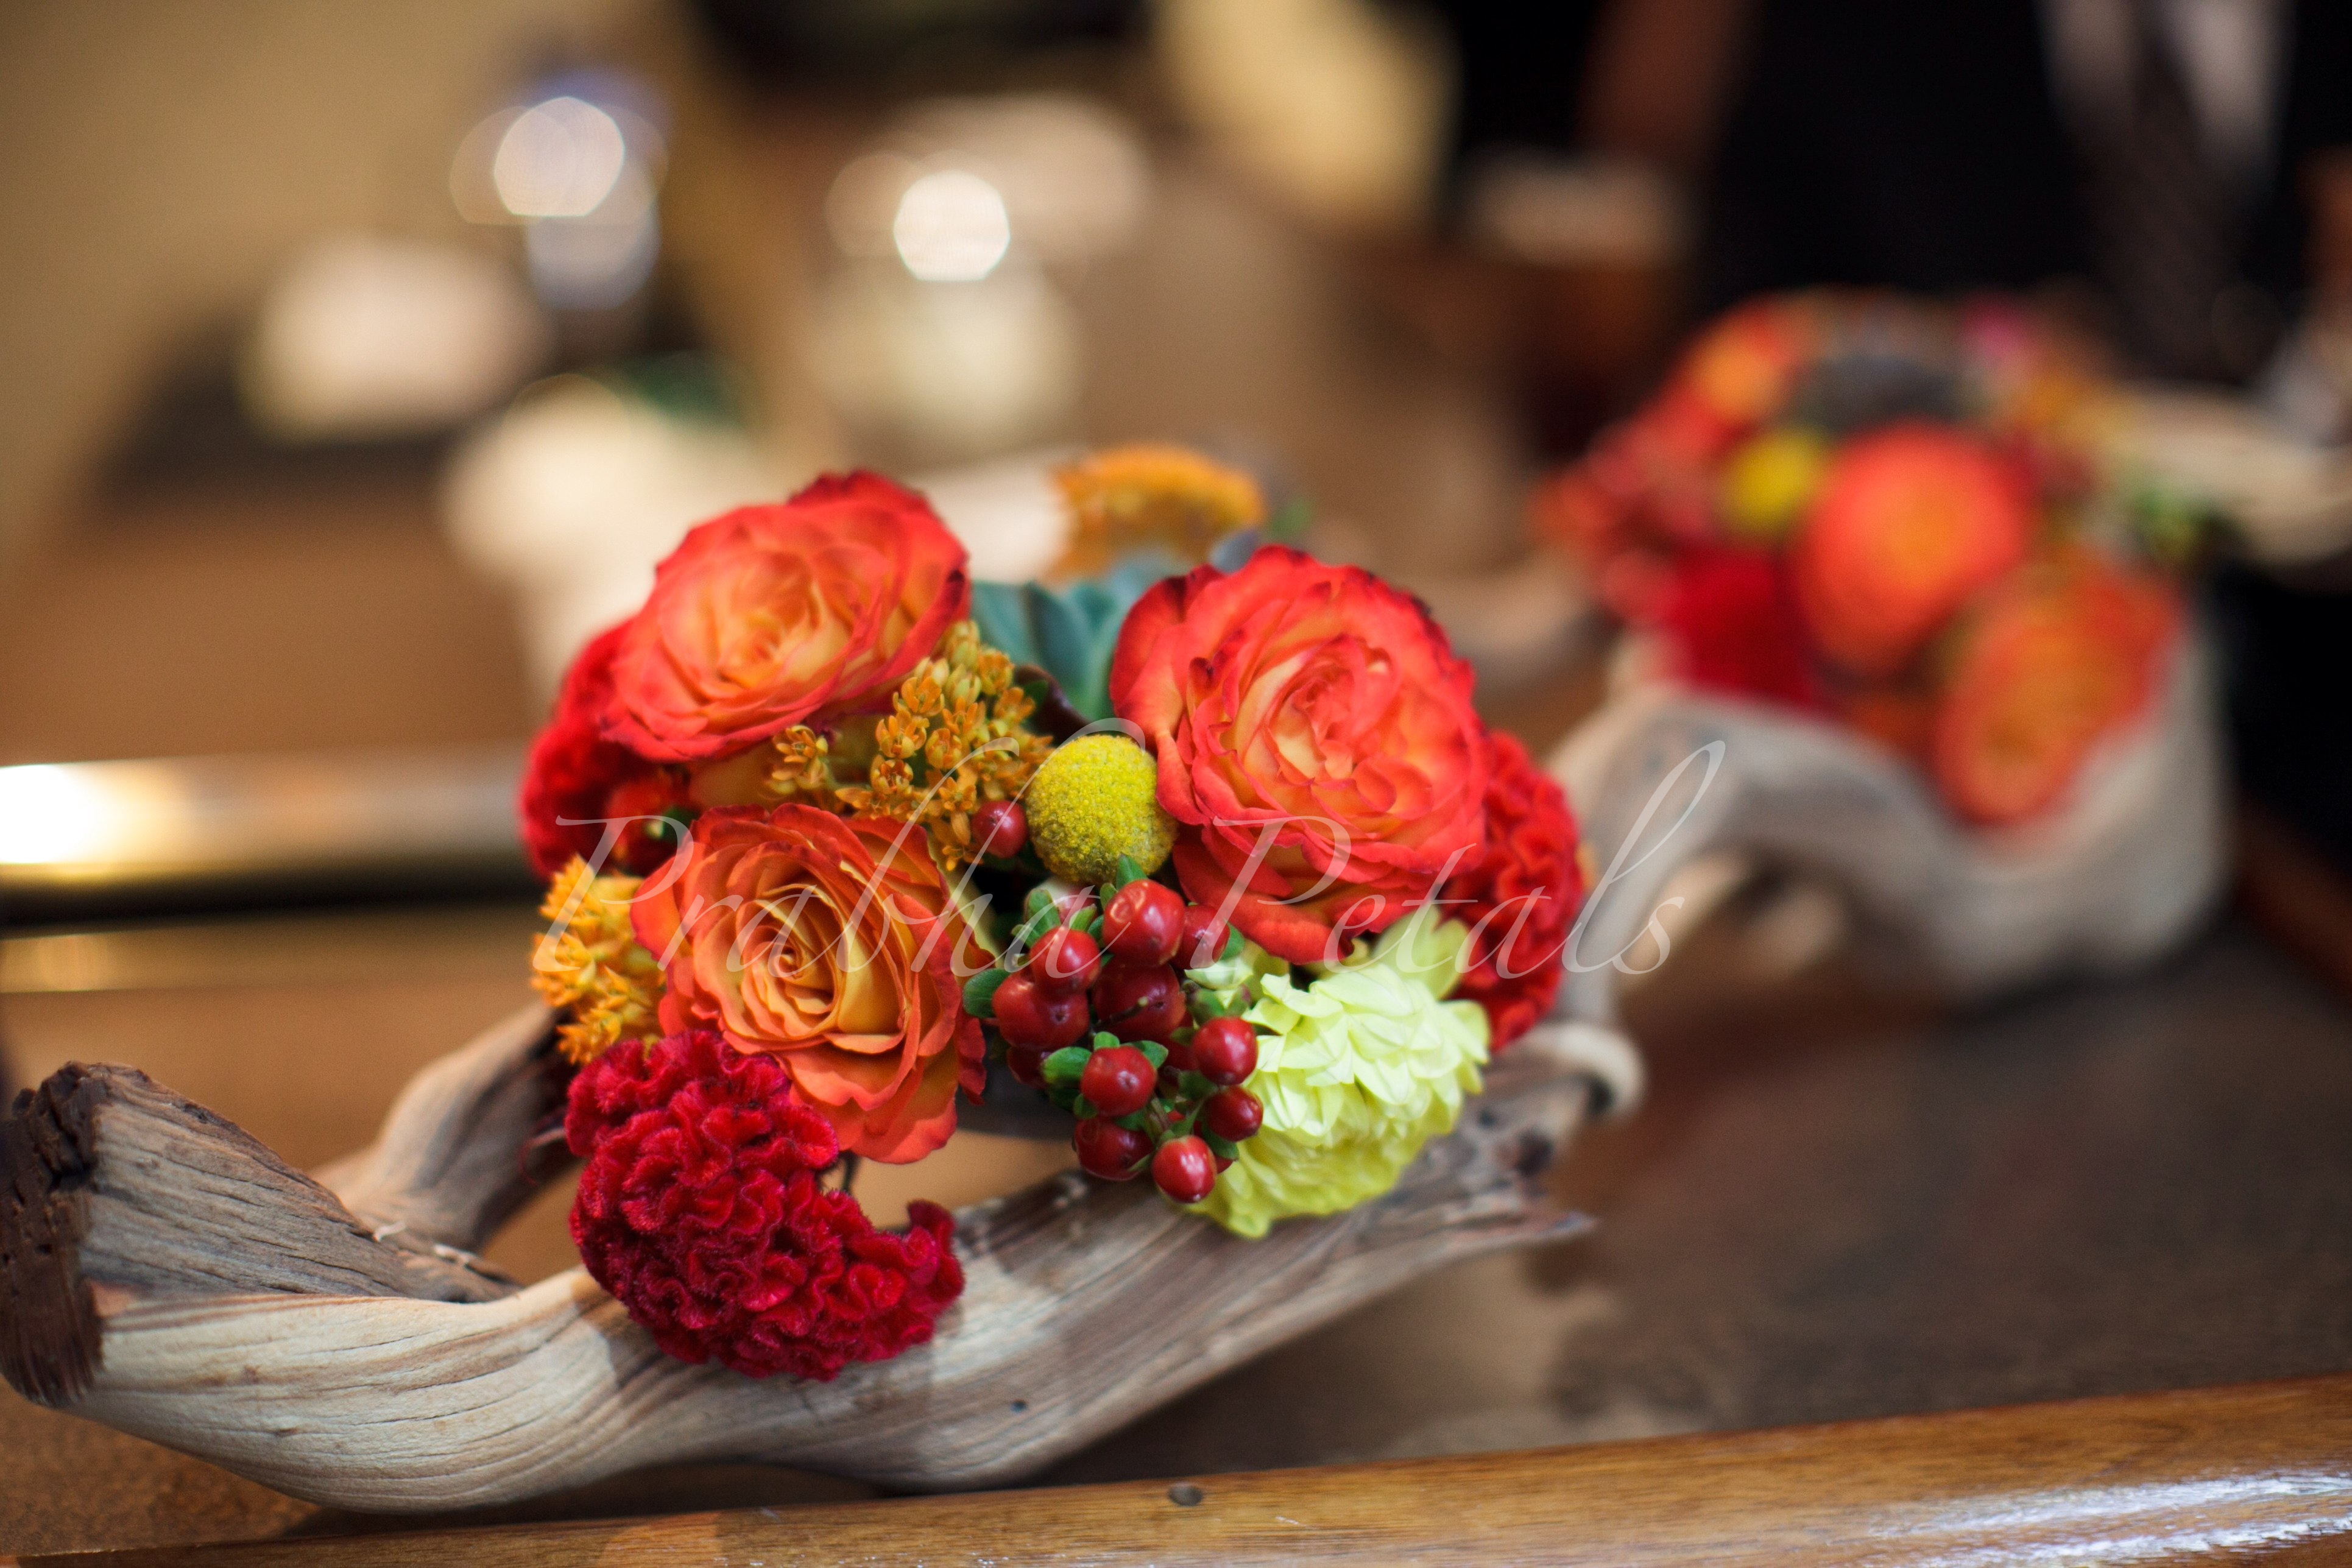
<instances>
[{"instance_id":1,"label":"polished brown wooden table edge along the bottom of the photo","mask_svg":"<svg viewBox=\"0 0 2352 1568\"><path fill-rule=\"evenodd\" d=\"M2352 1375L1063 1490L38 1563L2171 1563L2352 1556Z\"/></svg>"}]
</instances>

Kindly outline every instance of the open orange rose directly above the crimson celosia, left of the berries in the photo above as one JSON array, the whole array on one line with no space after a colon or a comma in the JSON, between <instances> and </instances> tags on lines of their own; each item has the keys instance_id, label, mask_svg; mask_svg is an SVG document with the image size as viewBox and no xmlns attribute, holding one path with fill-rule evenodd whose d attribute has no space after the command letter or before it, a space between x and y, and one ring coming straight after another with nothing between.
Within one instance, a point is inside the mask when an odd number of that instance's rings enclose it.
<instances>
[{"instance_id":1,"label":"open orange rose directly above the crimson celosia, left of the berries","mask_svg":"<svg viewBox=\"0 0 2352 1568\"><path fill-rule=\"evenodd\" d=\"M774 1056L842 1150L922 1159L981 1093L964 978L988 964L922 830L814 806L722 806L635 905L663 966L661 1027Z\"/></svg>"}]
</instances>

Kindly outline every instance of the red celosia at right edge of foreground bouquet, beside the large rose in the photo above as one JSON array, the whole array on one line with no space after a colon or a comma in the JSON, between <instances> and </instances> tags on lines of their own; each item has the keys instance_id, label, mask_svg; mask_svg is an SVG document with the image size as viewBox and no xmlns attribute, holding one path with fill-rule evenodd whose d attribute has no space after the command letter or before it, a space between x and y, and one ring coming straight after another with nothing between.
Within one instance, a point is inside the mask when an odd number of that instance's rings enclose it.
<instances>
[{"instance_id":1,"label":"red celosia at right edge of foreground bouquet, beside the large rose","mask_svg":"<svg viewBox=\"0 0 2352 1568\"><path fill-rule=\"evenodd\" d=\"M1585 896L1576 813L1515 736L1491 733L1486 846L1444 891L1446 919L1470 926L1454 994L1486 1009L1494 1051L1526 1034L1559 994L1569 926Z\"/></svg>"}]
</instances>

